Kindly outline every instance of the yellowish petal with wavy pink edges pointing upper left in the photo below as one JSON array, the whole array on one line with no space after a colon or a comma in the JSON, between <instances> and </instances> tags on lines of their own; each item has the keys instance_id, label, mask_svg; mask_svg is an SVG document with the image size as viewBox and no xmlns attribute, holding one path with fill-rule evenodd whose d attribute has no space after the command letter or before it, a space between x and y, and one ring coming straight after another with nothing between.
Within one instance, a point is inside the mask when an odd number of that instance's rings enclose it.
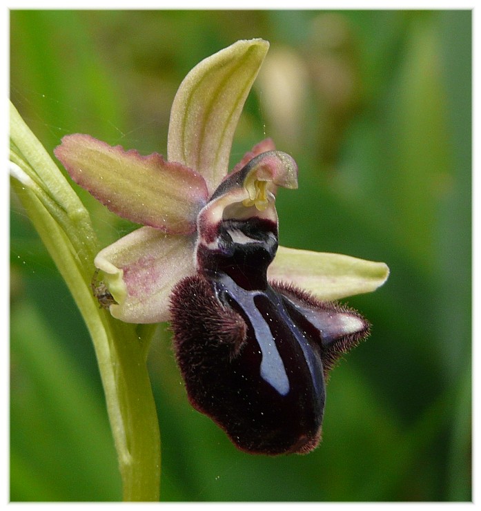
<instances>
[{"instance_id":1,"label":"yellowish petal with wavy pink edges pointing upper left","mask_svg":"<svg viewBox=\"0 0 481 511\"><path fill-rule=\"evenodd\" d=\"M208 193L204 178L192 169L89 135L63 137L55 155L75 182L117 215L168 233L195 231Z\"/></svg>"}]
</instances>

